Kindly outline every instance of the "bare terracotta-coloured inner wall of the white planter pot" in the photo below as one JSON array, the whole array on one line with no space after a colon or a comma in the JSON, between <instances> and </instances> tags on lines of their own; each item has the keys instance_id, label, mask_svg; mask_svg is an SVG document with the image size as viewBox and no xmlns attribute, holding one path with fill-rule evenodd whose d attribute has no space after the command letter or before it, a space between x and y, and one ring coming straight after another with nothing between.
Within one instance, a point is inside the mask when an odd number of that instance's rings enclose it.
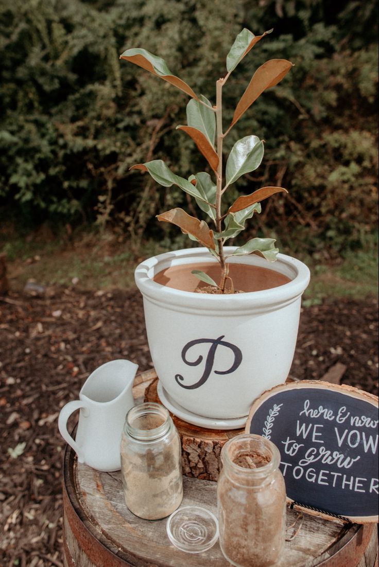
<instances>
[{"instance_id":1,"label":"bare terracotta-coloured inner wall of the white planter pot","mask_svg":"<svg viewBox=\"0 0 379 567\"><path fill-rule=\"evenodd\" d=\"M208 284L193 276L191 270L201 270L217 284L220 282L220 267L212 262L170 266L154 276L154 281L157 284L174 287L174 289L182 291L195 291L197 288L206 287ZM239 291L261 291L287 284L290 281L287 276L283 276L275 270L248 264L229 264L229 276L233 280L234 289ZM230 282L228 282L227 287L230 287Z\"/></svg>"}]
</instances>

